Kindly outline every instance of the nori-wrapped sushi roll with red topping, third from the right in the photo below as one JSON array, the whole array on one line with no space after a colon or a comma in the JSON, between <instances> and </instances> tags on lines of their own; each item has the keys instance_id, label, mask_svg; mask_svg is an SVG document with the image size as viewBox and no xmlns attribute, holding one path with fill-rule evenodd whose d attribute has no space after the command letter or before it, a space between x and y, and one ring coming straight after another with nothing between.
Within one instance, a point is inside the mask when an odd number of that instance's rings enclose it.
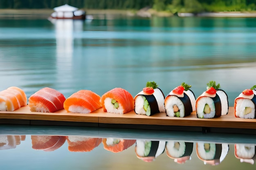
<instances>
[{"instance_id":1,"label":"nori-wrapped sushi roll with red topping, third from the right","mask_svg":"<svg viewBox=\"0 0 256 170\"><path fill-rule=\"evenodd\" d=\"M174 88L164 99L166 115L170 117L185 117L195 111L195 95L184 82Z\"/></svg>"}]
</instances>

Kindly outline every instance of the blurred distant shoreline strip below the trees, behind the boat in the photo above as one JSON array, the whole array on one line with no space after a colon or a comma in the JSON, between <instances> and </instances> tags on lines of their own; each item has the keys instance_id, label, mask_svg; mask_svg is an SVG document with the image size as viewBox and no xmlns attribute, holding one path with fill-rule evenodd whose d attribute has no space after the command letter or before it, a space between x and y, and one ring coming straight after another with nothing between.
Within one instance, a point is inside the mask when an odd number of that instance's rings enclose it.
<instances>
[{"instance_id":1,"label":"blurred distant shoreline strip below the trees, behind the boat","mask_svg":"<svg viewBox=\"0 0 256 170\"><path fill-rule=\"evenodd\" d=\"M135 10L118 10L118 9L86 9L88 15L127 15L150 18L152 16L170 17L173 13L165 11L155 11L153 9ZM19 17L19 16L40 16L48 17L54 12L53 9L0 9L0 17ZM179 17L248 17L256 18L256 11L236 11L236 12L202 12L194 13L177 13Z\"/></svg>"}]
</instances>

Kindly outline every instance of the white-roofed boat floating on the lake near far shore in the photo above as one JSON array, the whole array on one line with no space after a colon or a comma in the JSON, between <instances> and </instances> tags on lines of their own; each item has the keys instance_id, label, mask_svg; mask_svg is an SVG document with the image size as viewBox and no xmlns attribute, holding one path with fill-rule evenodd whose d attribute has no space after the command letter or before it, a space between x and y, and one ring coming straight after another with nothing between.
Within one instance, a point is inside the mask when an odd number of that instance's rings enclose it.
<instances>
[{"instance_id":1,"label":"white-roofed boat floating on the lake near far shore","mask_svg":"<svg viewBox=\"0 0 256 170\"><path fill-rule=\"evenodd\" d=\"M73 19L85 20L86 13L82 9L72 7L68 4L55 7L54 12L50 15L50 19Z\"/></svg>"}]
</instances>

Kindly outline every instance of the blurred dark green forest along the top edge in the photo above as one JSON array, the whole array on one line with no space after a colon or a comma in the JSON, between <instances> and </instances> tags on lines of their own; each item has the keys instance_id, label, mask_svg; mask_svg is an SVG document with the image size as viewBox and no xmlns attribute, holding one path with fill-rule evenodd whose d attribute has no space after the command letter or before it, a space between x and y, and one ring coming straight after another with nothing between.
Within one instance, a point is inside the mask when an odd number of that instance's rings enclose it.
<instances>
[{"instance_id":1,"label":"blurred dark green forest along the top edge","mask_svg":"<svg viewBox=\"0 0 256 170\"><path fill-rule=\"evenodd\" d=\"M69 4L80 9L131 9L157 11L219 12L256 11L256 0L0 0L0 9L52 9Z\"/></svg>"}]
</instances>

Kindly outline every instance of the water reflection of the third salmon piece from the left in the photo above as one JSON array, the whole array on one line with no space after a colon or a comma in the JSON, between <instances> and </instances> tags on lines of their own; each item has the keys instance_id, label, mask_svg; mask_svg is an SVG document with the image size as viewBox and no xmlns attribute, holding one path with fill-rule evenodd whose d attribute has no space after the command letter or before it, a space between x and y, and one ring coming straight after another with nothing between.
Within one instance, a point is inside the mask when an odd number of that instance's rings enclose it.
<instances>
[{"instance_id":1,"label":"water reflection of the third salmon piece from the left","mask_svg":"<svg viewBox=\"0 0 256 170\"><path fill-rule=\"evenodd\" d=\"M90 152L99 144L101 144L101 138L91 138L91 137L78 137L78 136L68 136L67 144L68 150L70 152Z\"/></svg>"}]
</instances>

